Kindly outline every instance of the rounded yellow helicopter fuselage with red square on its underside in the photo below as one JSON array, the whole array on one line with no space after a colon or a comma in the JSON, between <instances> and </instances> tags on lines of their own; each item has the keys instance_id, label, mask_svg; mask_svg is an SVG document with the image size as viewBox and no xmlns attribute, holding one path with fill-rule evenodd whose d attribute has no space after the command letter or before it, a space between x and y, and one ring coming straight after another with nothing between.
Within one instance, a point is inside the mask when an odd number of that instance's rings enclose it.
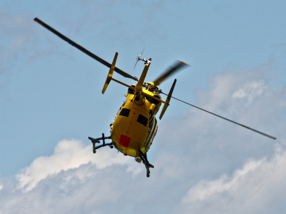
<instances>
[{"instance_id":1,"label":"rounded yellow helicopter fuselage with red square on its underside","mask_svg":"<svg viewBox=\"0 0 286 214\"><path fill-rule=\"evenodd\" d=\"M158 94L144 88L142 90L161 99ZM126 100L111 124L110 132L114 147L132 157L141 157L139 150L143 153L149 150L158 129L155 115L161 102L148 96L143 98L143 104L140 105L136 102L134 90L129 88Z\"/></svg>"}]
</instances>

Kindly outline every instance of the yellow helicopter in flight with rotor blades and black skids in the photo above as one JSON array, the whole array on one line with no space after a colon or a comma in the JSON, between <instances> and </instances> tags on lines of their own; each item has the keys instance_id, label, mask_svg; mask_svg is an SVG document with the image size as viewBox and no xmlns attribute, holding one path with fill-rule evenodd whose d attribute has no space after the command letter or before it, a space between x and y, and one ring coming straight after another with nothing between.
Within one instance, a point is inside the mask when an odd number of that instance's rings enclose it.
<instances>
[{"instance_id":1,"label":"yellow helicopter in flight with rotor blades and black skids","mask_svg":"<svg viewBox=\"0 0 286 214\"><path fill-rule=\"evenodd\" d=\"M34 18L34 21L38 22L43 27L45 27L52 33L56 34L58 37L65 40L66 42L74 46L75 48L79 49L80 51L84 52L88 56L91 56L93 59L97 60L98 62L110 68L105 84L102 89L102 94L104 94L104 92L106 91L111 80L128 87L126 99L124 103L122 104L122 106L120 106L117 114L115 115L115 119L110 124L110 128L111 128L110 136L106 137L104 133L102 133L102 137L100 138L88 137L88 139L91 140L93 144L93 153L96 153L96 150L101 147L105 147L105 146L109 146L110 148L115 147L118 150L118 152L122 152L126 156L134 157L135 161L139 163L143 162L146 167L146 171L147 171L146 175L147 177L150 177L150 168L154 168L154 166L149 163L147 159L147 152L150 149L150 146L152 145L153 139L156 136L156 133L158 130L158 122L156 119L156 114L158 113L161 107L161 104L163 103L164 106L159 116L159 119L161 120L165 111L167 110L167 107L170 105L171 98L181 101L183 103L186 103L190 106L198 108L202 111L205 111L207 113L210 113L222 119L225 119L234 124L240 125L244 128L247 128L259 134L262 134L271 139L274 139L274 140L276 139L275 137L271 135L265 134L263 132L255 130L243 124L237 123L233 120L214 114L198 106L187 103L178 98L172 97L172 93L173 93L173 90L175 88L175 84L177 81L176 79L174 80L168 94L162 92L162 90L159 89L158 86L170 75L178 72L179 70L181 70L181 68L186 67L188 65L187 63L183 61L177 60L173 66L169 67L164 73L162 73L158 78L156 78L156 80L154 80L153 82L146 83L144 80L145 80L147 71L150 67L150 64L152 62L152 59L151 58L144 59L141 57L144 49L142 53L139 56L137 56L136 64L139 61L144 62L144 69L142 71L140 78L138 79L136 76L131 76L130 74L125 73L124 71L115 67L118 52L115 53L113 62L110 64L106 62L105 60L101 59L100 57L98 57L97 55L91 53L87 49L83 48L79 44L70 40L68 37L56 31L55 29L53 29L51 26L47 25L40 19ZM128 85L119 80L114 79L112 77L114 71L126 78L131 78L137 81L137 83L133 85ZM160 94L167 95L167 98L165 101L162 99ZM111 143L105 143L105 140L107 139L111 139ZM96 143L100 143L100 140L102 140L102 144L99 146L95 146Z\"/></svg>"}]
</instances>

